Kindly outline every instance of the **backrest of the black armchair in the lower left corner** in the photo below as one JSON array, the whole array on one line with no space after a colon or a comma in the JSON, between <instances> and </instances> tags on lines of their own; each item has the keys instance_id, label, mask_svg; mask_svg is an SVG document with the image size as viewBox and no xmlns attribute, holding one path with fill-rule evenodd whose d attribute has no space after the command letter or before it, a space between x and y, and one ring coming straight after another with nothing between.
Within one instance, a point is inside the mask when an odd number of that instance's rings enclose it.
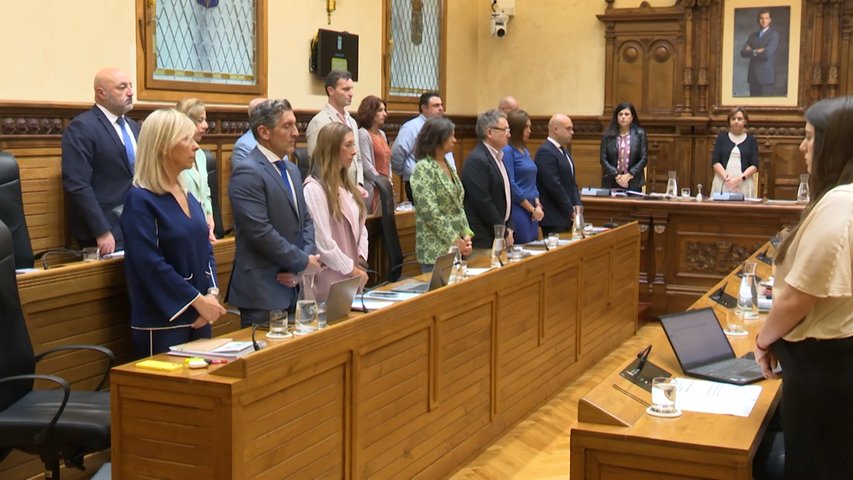
<instances>
[{"instance_id":1,"label":"backrest of the black armchair in the lower left corner","mask_svg":"<svg viewBox=\"0 0 853 480\"><path fill-rule=\"evenodd\" d=\"M0 221L0 378L32 373L35 373L35 358L18 296L12 234ZM0 385L0 410L32 389L31 380Z\"/></svg>"}]
</instances>

